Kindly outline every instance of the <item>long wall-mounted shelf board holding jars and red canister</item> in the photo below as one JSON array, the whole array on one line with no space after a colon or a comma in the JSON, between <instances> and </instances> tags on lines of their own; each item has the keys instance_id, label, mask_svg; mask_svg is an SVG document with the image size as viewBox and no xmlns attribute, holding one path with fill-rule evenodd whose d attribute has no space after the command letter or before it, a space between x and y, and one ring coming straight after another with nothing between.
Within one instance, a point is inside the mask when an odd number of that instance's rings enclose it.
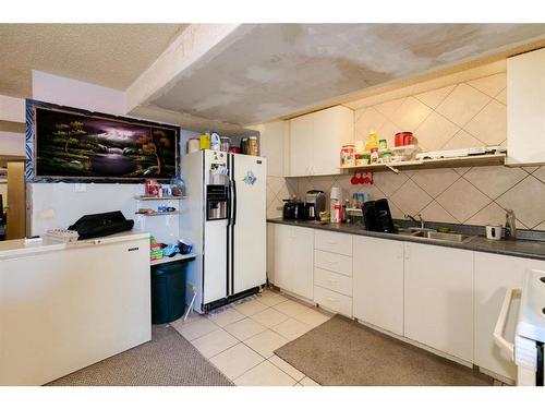
<instances>
[{"instance_id":1,"label":"long wall-mounted shelf board holding jars and red canister","mask_svg":"<svg viewBox=\"0 0 545 409\"><path fill-rule=\"evenodd\" d=\"M389 164L373 164L364 166L343 166L340 169L352 170L393 170L398 168L403 169L427 169L427 168L456 168L456 167L473 167L473 166L493 166L505 165L506 154L493 155L473 155L462 156L456 158L439 158L439 159L423 159L423 160L405 160Z\"/></svg>"}]
</instances>

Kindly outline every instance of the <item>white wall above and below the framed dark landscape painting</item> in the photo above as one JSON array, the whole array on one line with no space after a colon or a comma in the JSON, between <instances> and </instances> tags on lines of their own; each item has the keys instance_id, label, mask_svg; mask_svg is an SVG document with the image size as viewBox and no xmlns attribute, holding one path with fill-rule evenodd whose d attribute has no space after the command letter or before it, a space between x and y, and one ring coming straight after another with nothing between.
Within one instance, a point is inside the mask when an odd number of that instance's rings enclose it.
<instances>
[{"instance_id":1,"label":"white wall above and below the framed dark landscape painting","mask_svg":"<svg viewBox=\"0 0 545 409\"><path fill-rule=\"evenodd\" d=\"M33 71L33 98L74 108L124 115L123 93L80 81ZM85 189L84 191L80 191ZM86 214L121 210L126 218L145 220L143 228L159 241L178 239L178 217L143 218L134 214L143 184L126 183L28 183L31 233L66 228ZM156 207L146 203L143 207ZM154 220L150 220L154 219Z\"/></svg>"}]
</instances>

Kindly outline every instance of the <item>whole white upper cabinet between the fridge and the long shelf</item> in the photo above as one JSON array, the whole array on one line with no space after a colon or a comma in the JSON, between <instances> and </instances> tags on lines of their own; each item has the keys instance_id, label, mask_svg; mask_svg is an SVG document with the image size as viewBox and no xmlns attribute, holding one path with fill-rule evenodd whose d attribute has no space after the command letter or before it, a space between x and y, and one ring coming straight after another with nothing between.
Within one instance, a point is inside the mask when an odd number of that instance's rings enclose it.
<instances>
[{"instance_id":1,"label":"whole white upper cabinet between the fridge and the long shelf","mask_svg":"<svg viewBox=\"0 0 545 409\"><path fill-rule=\"evenodd\" d=\"M288 176L340 173L340 149L354 142L354 111L337 106L290 120Z\"/></svg>"}]
</instances>

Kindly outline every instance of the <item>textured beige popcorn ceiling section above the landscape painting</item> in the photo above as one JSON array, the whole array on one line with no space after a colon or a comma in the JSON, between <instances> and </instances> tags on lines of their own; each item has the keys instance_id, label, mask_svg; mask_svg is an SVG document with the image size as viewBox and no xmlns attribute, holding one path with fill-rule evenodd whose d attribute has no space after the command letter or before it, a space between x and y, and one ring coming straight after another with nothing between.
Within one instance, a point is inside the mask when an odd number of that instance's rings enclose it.
<instances>
[{"instance_id":1,"label":"textured beige popcorn ceiling section above the landscape painting","mask_svg":"<svg viewBox=\"0 0 545 409\"><path fill-rule=\"evenodd\" d=\"M0 24L0 94L32 97L32 70L125 89L183 24Z\"/></svg>"}]
</instances>

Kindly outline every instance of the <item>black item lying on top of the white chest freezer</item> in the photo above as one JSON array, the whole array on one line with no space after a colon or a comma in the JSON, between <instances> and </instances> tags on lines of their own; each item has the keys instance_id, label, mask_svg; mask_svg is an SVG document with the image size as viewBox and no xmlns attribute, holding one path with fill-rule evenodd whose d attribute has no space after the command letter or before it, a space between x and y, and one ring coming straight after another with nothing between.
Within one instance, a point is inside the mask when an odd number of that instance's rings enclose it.
<instances>
[{"instance_id":1,"label":"black item lying on top of the white chest freezer","mask_svg":"<svg viewBox=\"0 0 545 409\"><path fill-rule=\"evenodd\" d=\"M125 219L125 216L117 210L82 216L69 230L77 231L78 240L85 240L132 230L133 226L134 220Z\"/></svg>"}]
</instances>

